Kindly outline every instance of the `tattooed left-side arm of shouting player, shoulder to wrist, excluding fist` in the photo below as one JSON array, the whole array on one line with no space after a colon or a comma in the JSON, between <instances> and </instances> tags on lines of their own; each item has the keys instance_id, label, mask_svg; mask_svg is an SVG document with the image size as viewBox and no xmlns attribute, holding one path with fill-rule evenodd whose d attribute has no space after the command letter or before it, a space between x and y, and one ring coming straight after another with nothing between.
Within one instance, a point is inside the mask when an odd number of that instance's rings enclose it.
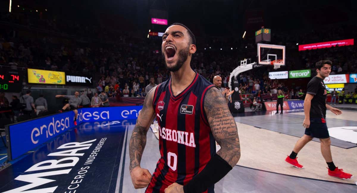
<instances>
[{"instance_id":1,"label":"tattooed left-side arm of shouting player, shoulder to wrist, excluding fist","mask_svg":"<svg viewBox=\"0 0 357 193\"><path fill-rule=\"evenodd\" d=\"M147 93L130 138L130 172L136 166L140 166L141 156L146 145L146 133L147 130L149 130L152 120L155 118L154 109L152 108L152 100L154 98L155 89L156 87L152 88L149 93Z\"/></svg>"}]
</instances>

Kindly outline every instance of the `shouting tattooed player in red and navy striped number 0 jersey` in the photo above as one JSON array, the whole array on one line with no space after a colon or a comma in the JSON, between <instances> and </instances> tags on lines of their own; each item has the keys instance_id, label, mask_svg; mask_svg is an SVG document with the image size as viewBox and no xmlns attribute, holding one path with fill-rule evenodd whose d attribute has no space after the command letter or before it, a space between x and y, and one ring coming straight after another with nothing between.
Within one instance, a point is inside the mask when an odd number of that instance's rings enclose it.
<instances>
[{"instance_id":1,"label":"shouting tattooed player in red and navy striped number 0 jersey","mask_svg":"<svg viewBox=\"0 0 357 193\"><path fill-rule=\"evenodd\" d=\"M129 145L134 187L146 193L212 193L240 158L237 125L221 92L190 67L195 36L172 24L162 36L171 78L146 95ZM140 167L152 119L159 123L160 159L155 172ZM221 145L216 153L215 140Z\"/></svg>"}]
</instances>

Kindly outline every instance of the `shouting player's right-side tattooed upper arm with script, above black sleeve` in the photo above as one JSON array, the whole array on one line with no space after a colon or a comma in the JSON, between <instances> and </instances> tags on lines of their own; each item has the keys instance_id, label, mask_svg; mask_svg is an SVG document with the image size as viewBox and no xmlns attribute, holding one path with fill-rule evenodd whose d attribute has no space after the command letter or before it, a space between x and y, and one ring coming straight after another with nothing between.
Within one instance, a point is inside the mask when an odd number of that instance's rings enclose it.
<instances>
[{"instance_id":1,"label":"shouting player's right-side tattooed upper arm with script, above black sleeve","mask_svg":"<svg viewBox=\"0 0 357 193\"><path fill-rule=\"evenodd\" d=\"M217 152L232 167L241 157L237 125L233 119L225 98L216 88L207 91L205 112L213 137L221 145Z\"/></svg>"}]
</instances>

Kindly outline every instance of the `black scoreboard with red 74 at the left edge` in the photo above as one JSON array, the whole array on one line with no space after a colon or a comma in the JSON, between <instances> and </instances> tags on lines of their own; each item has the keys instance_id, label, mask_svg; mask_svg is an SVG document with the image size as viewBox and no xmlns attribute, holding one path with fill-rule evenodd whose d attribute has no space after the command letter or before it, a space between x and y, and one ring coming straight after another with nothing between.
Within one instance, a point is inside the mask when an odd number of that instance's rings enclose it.
<instances>
[{"instance_id":1,"label":"black scoreboard with red 74 at the left edge","mask_svg":"<svg viewBox=\"0 0 357 193\"><path fill-rule=\"evenodd\" d=\"M0 92L17 93L22 90L22 80L24 79L21 71L10 68L0 69Z\"/></svg>"}]
</instances>

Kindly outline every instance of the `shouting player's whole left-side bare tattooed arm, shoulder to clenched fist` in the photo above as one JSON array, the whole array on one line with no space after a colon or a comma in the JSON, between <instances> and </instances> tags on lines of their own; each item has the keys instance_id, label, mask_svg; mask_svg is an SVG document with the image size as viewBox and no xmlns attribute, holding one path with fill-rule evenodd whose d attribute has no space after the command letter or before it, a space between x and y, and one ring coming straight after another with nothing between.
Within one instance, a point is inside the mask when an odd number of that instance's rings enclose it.
<instances>
[{"instance_id":1,"label":"shouting player's whole left-side bare tattooed arm, shoulder to clenched fist","mask_svg":"<svg viewBox=\"0 0 357 193\"><path fill-rule=\"evenodd\" d=\"M151 89L146 95L144 105L136 120L135 128L130 138L130 175L135 188L145 188L151 179L149 170L140 167L142 153L146 145L146 133L149 130L152 120L155 118L152 100L154 98L155 88Z\"/></svg>"}]
</instances>

